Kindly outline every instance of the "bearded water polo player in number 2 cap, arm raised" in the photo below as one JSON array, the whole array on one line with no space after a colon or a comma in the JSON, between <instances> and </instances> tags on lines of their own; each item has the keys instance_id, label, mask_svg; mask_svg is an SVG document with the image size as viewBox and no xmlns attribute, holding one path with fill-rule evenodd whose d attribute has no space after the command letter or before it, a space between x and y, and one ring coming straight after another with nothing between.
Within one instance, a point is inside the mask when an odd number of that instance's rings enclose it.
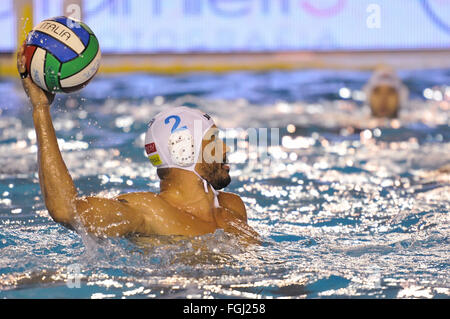
<instances>
[{"instance_id":1,"label":"bearded water polo player in number 2 cap, arm raised","mask_svg":"<svg viewBox=\"0 0 450 319\"><path fill-rule=\"evenodd\" d=\"M258 234L247 224L242 199L219 189L230 183L226 145L212 119L195 109L158 114L146 135L146 152L157 167L160 193L137 192L115 198L79 197L59 150L50 116L54 95L26 74L24 48L17 66L33 106L39 182L55 222L96 236L197 236L224 229L249 241Z\"/></svg>"}]
</instances>

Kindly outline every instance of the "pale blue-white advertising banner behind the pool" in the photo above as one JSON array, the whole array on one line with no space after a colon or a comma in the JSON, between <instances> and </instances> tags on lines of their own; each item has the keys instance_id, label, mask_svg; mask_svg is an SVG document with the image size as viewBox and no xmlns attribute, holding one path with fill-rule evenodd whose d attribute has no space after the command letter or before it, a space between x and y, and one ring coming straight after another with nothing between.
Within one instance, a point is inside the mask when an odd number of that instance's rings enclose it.
<instances>
[{"instance_id":1,"label":"pale blue-white advertising banner behind the pool","mask_svg":"<svg viewBox=\"0 0 450 319\"><path fill-rule=\"evenodd\" d=\"M35 0L35 24L63 14ZM15 46L12 0L0 50ZM450 49L450 0L84 0L106 53ZM5 30L7 30L5 32Z\"/></svg>"}]
</instances>

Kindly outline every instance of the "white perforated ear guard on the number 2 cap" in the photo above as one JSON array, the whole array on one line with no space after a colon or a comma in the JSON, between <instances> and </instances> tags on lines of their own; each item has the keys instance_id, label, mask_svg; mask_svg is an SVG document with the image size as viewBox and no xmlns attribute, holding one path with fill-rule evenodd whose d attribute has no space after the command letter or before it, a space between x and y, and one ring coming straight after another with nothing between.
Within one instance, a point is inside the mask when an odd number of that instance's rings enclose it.
<instances>
[{"instance_id":1,"label":"white perforated ear guard on the number 2 cap","mask_svg":"<svg viewBox=\"0 0 450 319\"><path fill-rule=\"evenodd\" d=\"M194 139L188 129L177 130L169 136L169 154L176 165L186 167L195 163Z\"/></svg>"}]
</instances>

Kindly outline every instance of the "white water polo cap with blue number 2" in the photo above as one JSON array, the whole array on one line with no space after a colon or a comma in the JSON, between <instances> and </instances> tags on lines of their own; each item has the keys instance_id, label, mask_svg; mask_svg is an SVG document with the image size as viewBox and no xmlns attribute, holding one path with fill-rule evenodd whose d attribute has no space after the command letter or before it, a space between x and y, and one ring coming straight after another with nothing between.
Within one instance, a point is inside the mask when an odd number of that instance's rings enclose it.
<instances>
[{"instance_id":1,"label":"white water polo cap with blue number 2","mask_svg":"<svg viewBox=\"0 0 450 319\"><path fill-rule=\"evenodd\" d=\"M145 152L157 168L180 168L195 173L205 192L208 182L195 171L205 133L214 125L211 117L197 109L180 106L158 113L149 123L145 135ZM217 207L217 192L214 205Z\"/></svg>"}]
</instances>

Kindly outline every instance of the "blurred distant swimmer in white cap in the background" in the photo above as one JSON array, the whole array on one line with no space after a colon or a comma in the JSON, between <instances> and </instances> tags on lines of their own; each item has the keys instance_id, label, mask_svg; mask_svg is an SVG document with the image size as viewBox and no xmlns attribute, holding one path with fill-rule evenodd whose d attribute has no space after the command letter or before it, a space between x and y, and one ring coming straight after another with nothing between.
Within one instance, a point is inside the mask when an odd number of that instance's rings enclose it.
<instances>
[{"instance_id":1,"label":"blurred distant swimmer in white cap in the background","mask_svg":"<svg viewBox=\"0 0 450 319\"><path fill-rule=\"evenodd\" d=\"M372 116L377 118L397 118L408 100L407 87L394 70L386 67L375 70L364 93Z\"/></svg>"}]
</instances>

